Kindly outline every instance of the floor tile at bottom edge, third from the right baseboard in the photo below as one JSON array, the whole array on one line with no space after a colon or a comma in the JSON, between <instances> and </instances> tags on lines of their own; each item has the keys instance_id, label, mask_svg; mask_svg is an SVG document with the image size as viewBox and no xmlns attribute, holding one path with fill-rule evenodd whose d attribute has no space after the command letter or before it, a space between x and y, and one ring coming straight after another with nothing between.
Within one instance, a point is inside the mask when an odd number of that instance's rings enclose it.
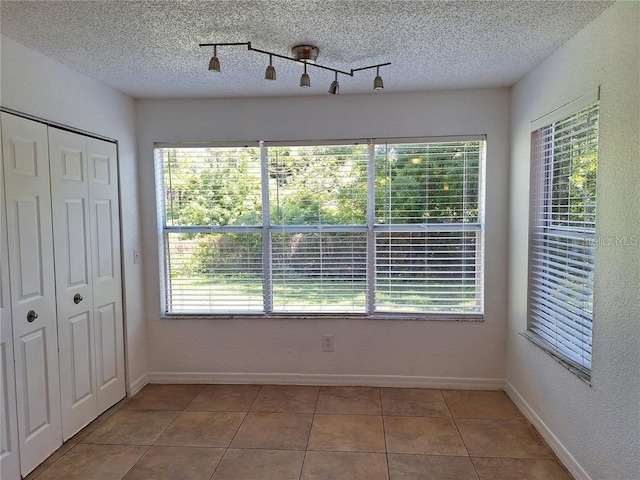
<instances>
[{"instance_id":1,"label":"floor tile at bottom edge, third from the right baseboard","mask_svg":"<svg viewBox=\"0 0 640 480\"><path fill-rule=\"evenodd\" d=\"M387 480L384 453L307 452L301 480Z\"/></svg>"}]
</instances>

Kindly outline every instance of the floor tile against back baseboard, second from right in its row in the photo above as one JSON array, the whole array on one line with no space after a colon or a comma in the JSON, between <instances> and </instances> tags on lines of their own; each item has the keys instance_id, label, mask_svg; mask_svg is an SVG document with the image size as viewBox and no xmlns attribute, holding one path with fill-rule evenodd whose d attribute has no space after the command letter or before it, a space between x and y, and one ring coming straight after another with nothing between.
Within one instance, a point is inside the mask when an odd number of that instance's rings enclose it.
<instances>
[{"instance_id":1,"label":"floor tile against back baseboard, second from right in its row","mask_svg":"<svg viewBox=\"0 0 640 480\"><path fill-rule=\"evenodd\" d=\"M426 388L381 388L384 415L407 417L451 417L440 390Z\"/></svg>"}]
</instances>

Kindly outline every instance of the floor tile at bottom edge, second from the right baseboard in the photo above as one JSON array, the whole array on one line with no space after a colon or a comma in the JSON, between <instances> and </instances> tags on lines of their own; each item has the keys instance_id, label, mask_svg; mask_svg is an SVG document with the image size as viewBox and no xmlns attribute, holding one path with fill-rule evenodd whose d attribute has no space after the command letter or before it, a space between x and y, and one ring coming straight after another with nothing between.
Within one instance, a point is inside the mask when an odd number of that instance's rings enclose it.
<instances>
[{"instance_id":1,"label":"floor tile at bottom edge, second from the right baseboard","mask_svg":"<svg viewBox=\"0 0 640 480\"><path fill-rule=\"evenodd\" d=\"M391 480L478 480L469 457L389 455Z\"/></svg>"}]
</instances>

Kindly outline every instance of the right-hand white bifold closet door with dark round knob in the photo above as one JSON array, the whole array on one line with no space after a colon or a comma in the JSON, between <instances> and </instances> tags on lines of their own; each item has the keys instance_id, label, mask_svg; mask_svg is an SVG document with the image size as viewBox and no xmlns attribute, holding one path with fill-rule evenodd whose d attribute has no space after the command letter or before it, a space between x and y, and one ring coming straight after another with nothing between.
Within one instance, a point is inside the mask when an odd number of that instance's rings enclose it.
<instances>
[{"instance_id":1,"label":"right-hand white bifold closet door with dark round knob","mask_svg":"<svg viewBox=\"0 0 640 480\"><path fill-rule=\"evenodd\" d=\"M120 215L113 143L49 128L62 433L125 396Z\"/></svg>"}]
</instances>

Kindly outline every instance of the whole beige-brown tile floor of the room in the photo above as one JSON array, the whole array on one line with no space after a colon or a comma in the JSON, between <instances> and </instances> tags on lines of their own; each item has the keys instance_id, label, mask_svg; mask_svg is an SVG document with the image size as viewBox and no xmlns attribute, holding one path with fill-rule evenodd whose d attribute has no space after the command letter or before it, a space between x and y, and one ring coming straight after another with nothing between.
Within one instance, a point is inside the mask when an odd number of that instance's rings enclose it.
<instances>
[{"instance_id":1,"label":"whole beige-brown tile floor of the room","mask_svg":"<svg viewBox=\"0 0 640 480\"><path fill-rule=\"evenodd\" d=\"M29 480L570 480L504 392L147 385Z\"/></svg>"}]
</instances>

